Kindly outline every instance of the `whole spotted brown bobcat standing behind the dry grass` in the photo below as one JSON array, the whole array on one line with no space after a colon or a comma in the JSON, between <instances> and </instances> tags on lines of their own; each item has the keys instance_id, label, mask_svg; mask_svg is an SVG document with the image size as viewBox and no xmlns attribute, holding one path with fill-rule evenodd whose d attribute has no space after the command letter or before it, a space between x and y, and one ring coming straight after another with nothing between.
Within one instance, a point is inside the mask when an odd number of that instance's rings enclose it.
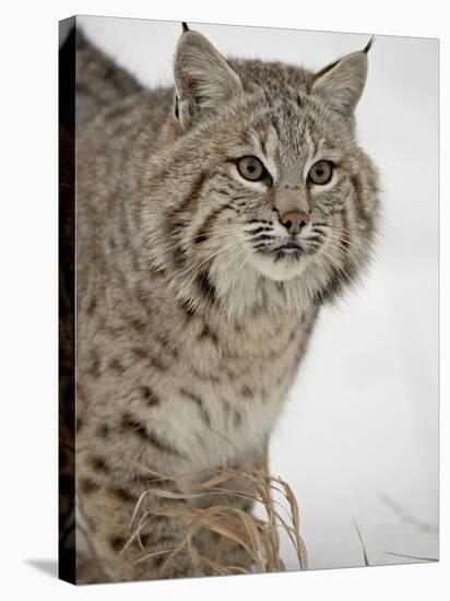
<instances>
[{"instance_id":1,"label":"whole spotted brown bobcat standing behind the dry grass","mask_svg":"<svg viewBox=\"0 0 450 601\"><path fill-rule=\"evenodd\" d=\"M102 578L152 579L164 555L121 553L152 474L261 467L321 307L368 264L370 44L312 73L226 60L183 25L174 87L146 90L76 35L79 516ZM145 553L182 534L153 520ZM199 573L180 553L164 577Z\"/></svg>"}]
</instances>

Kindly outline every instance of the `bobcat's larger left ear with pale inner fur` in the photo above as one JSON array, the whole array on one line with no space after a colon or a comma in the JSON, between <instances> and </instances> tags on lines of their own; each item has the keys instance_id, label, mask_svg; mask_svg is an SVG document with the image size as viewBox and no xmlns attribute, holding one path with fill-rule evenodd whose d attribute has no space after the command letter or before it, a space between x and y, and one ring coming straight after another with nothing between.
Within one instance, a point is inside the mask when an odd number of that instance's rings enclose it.
<instances>
[{"instance_id":1,"label":"bobcat's larger left ear with pale inner fur","mask_svg":"<svg viewBox=\"0 0 450 601\"><path fill-rule=\"evenodd\" d=\"M203 35L185 27L183 32L175 55L175 114L188 129L202 114L238 94L242 84Z\"/></svg>"}]
</instances>

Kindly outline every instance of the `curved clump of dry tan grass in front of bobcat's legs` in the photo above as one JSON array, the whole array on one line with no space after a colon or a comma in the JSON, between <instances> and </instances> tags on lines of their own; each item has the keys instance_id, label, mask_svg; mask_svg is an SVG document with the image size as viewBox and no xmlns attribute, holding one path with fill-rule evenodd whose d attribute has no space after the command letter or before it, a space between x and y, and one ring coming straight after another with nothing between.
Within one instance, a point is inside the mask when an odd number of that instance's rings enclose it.
<instances>
[{"instance_id":1,"label":"curved clump of dry tan grass in front of bobcat's legs","mask_svg":"<svg viewBox=\"0 0 450 601\"><path fill-rule=\"evenodd\" d=\"M193 576L284 571L286 568L280 555L280 531L284 530L296 552L299 569L307 568L307 553L300 535L298 505L286 482L281 478L252 469L209 470L208 473L209 479L199 483L189 480L188 475L166 476L152 471L152 474L161 480L161 487L150 488L138 500L130 522L132 534L122 552L137 541L143 553L140 562L157 555L165 556L159 571L161 577L164 577L170 563L180 553L190 556ZM183 492L175 493L164 488L164 484L167 483L175 484L177 490ZM201 500L216 495L223 498L224 494L227 499L236 496L253 500L262 507L264 517L257 518L230 504L209 503L205 508L194 506L196 499ZM144 511L143 502L150 495L157 497L158 504ZM279 500L275 500L274 496ZM149 528L149 522L158 516L180 520L185 533L177 546L149 554L142 544L141 533L144 528ZM194 544L194 538L201 531L214 533L217 540L208 556L201 555L198 545ZM230 543L235 543L242 551L244 565L240 563L228 565L225 553Z\"/></svg>"}]
</instances>

